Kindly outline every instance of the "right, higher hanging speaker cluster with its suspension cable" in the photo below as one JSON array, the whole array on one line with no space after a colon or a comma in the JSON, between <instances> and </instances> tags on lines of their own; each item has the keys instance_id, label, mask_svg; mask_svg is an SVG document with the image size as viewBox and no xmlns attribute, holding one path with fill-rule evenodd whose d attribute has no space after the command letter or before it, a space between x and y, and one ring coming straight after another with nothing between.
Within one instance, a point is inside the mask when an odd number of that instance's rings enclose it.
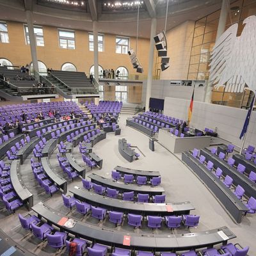
<instances>
[{"instance_id":1,"label":"right, higher hanging speaker cluster with its suspension cable","mask_svg":"<svg viewBox=\"0 0 256 256\"><path fill-rule=\"evenodd\" d=\"M166 40L166 23L167 23L167 15L168 15L168 5L169 0L167 0L166 6L166 15L165 15L165 25L164 31L161 31L158 35L154 36L154 40L156 43L157 56L161 57L161 70L164 71L168 67L170 67L169 61L170 58L167 57L167 40Z\"/></svg>"}]
</instances>

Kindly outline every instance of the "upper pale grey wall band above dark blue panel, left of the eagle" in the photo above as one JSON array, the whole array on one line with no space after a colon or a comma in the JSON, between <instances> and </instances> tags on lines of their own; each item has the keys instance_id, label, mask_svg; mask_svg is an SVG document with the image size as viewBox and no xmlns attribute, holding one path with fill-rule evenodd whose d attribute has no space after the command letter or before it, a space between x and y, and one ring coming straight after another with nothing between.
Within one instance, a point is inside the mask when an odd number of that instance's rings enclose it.
<instances>
[{"instance_id":1,"label":"upper pale grey wall band above dark blue panel, left of the eagle","mask_svg":"<svg viewBox=\"0 0 256 256\"><path fill-rule=\"evenodd\" d=\"M165 97L191 99L193 86L175 86L170 85L172 80L153 80L151 97L157 99L164 99ZM194 83L194 81L193 81ZM205 81L197 81L198 83L205 83ZM143 81L141 102L145 104L146 100L147 81ZM195 86L195 100L204 101L206 85L203 87Z\"/></svg>"}]
</instances>

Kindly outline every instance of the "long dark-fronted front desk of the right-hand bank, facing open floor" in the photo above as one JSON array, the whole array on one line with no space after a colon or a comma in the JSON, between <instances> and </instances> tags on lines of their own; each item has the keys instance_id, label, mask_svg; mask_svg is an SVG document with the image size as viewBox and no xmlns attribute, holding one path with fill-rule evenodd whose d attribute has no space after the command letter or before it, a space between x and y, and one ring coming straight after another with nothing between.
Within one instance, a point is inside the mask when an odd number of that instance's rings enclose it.
<instances>
[{"instance_id":1,"label":"long dark-fronted front desk of the right-hand bank, facing open floor","mask_svg":"<svg viewBox=\"0 0 256 256\"><path fill-rule=\"evenodd\" d=\"M189 168L211 189L212 193L220 200L234 220L237 223L241 223L243 214L248 211L243 202L214 173L210 172L204 164L201 164L189 152L182 153L182 161L188 164Z\"/></svg>"}]
</instances>

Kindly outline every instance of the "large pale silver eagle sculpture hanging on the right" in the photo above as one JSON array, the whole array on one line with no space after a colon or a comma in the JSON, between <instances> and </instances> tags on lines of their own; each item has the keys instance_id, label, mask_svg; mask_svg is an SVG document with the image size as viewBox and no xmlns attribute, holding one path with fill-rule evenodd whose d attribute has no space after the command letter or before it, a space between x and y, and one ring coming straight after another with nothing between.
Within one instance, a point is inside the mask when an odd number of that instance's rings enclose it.
<instances>
[{"instance_id":1,"label":"large pale silver eagle sculpture hanging on the right","mask_svg":"<svg viewBox=\"0 0 256 256\"><path fill-rule=\"evenodd\" d=\"M244 19L241 36L238 24L230 26L216 41L211 52L209 82L225 92L243 92L245 84L256 90L256 16Z\"/></svg>"}]
</instances>

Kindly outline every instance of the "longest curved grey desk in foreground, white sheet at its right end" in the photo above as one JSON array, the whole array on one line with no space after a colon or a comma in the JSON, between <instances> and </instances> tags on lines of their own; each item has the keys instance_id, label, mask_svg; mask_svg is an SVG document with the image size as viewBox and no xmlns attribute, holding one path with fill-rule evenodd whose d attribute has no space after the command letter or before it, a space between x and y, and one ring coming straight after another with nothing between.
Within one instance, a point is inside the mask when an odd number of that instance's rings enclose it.
<instances>
[{"instance_id":1,"label":"longest curved grey desk in foreground, white sheet at its right end","mask_svg":"<svg viewBox=\"0 0 256 256\"><path fill-rule=\"evenodd\" d=\"M236 237L227 227L189 234L136 234L134 232L122 232L77 221L73 228L67 228L59 224L62 218L67 217L44 205L42 202L36 204L32 209L37 213L38 218L44 218L48 223L59 227L61 231L92 242L130 250L152 251L153 249L154 252L189 250L190 248L203 248L213 246L214 244L227 244L229 239ZM127 237L130 244L124 245L125 238Z\"/></svg>"}]
</instances>

